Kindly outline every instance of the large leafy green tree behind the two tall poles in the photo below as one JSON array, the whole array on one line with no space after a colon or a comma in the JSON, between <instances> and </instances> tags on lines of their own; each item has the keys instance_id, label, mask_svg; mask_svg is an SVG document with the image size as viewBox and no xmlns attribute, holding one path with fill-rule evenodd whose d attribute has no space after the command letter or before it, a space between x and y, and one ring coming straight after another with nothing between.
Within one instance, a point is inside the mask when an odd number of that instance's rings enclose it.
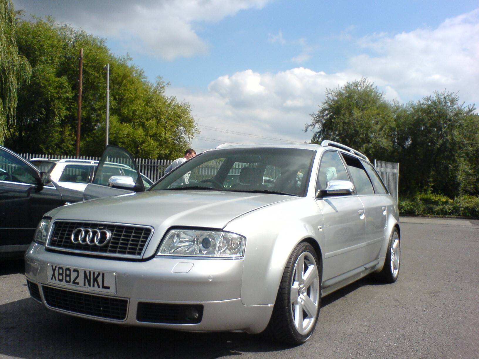
<instances>
[{"instance_id":1,"label":"large leafy green tree behind the two tall poles","mask_svg":"<svg viewBox=\"0 0 479 359\"><path fill-rule=\"evenodd\" d=\"M161 79L150 83L131 57L114 56L105 40L51 17L20 21L19 52L33 67L19 94L16 126L8 143L17 152L73 155L77 123L78 54L83 48L82 155L100 155L105 144L106 79L110 64L109 143L134 156L181 157L197 128L188 103L167 97ZM167 130L167 131L166 131Z\"/></svg>"}]
</instances>

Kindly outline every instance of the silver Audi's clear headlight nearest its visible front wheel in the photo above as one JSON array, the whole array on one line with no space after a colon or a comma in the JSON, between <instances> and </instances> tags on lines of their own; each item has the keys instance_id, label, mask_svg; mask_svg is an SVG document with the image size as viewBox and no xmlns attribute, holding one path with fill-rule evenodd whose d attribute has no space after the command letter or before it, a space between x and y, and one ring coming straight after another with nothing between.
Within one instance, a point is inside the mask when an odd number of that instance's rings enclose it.
<instances>
[{"instance_id":1,"label":"silver Audi's clear headlight nearest its visible front wheel","mask_svg":"<svg viewBox=\"0 0 479 359\"><path fill-rule=\"evenodd\" d=\"M242 257L246 238L235 233L172 229L158 255L194 257Z\"/></svg>"}]
</instances>

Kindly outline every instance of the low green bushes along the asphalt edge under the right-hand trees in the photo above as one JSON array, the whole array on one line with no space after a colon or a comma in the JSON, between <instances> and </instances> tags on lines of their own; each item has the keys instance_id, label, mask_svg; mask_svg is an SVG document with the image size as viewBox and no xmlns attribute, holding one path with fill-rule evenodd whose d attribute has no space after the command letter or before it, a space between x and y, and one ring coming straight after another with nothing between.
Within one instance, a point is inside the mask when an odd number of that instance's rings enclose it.
<instances>
[{"instance_id":1,"label":"low green bushes along the asphalt edge under the right-hand trees","mask_svg":"<svg viewBox=\"0 0 479 359\"><path fill-rule=\"evenodd\" d=\"M479 218L479 197L464 195L454 200L434 193L419 193L401 198L398 203L401 215L463 216Z\"/></svg>"}]
</instances>

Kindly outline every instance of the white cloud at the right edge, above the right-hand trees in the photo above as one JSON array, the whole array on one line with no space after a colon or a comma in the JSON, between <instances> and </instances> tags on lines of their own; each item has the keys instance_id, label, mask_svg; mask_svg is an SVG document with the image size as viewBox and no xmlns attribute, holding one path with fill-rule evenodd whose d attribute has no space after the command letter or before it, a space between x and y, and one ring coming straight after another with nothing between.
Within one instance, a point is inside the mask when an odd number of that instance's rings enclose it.
<instances>
[{"instance_id":1,"label":"white cloud at the right edge, above the right-hand trees","mask_svg":"<svg viewBox=\"0 0 479 359\"><path fill-rule=\"evenodd\" d=\"M405 99L444 89L460 91L463 101L479 98L479 9L435 29L373 34L359 44L376 56L354 56L350 67Z\"/></svg>"}]
</instances>

